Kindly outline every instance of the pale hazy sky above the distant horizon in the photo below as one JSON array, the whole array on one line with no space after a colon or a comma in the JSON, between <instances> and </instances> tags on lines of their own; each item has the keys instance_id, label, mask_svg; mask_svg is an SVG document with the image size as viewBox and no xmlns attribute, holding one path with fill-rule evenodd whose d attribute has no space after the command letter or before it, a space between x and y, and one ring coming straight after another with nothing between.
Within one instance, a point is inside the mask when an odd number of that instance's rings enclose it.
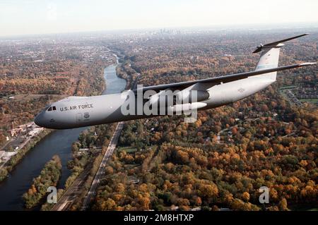
<instances>
[{"instance_id":1,"label":"pale hazy sky above the distant horizon","mask_svg":"<svg viewBox=\"0 0 318 225\"><path fill-rule=\"evenodd\" d=\"M317 0L0 0L0 36L317 22Z\"/></svg>"}]
</instances>

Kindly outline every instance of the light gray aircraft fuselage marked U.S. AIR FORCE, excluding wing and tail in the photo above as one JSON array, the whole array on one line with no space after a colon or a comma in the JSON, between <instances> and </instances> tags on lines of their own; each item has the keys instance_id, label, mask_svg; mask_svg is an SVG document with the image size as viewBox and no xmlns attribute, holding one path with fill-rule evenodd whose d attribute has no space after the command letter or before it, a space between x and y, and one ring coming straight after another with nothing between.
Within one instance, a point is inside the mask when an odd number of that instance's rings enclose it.
<instances>
[{"instance_id":1,"label":"light gray aircraft fuselage marked U.S. AIR FORCE, excluding wing and tail","mask_svg":"<svg viewBox=\"0 0 318 225\"><path fill-rule=\"evenodd\" d=\"M230 104L263 90L274 81L264 77L249 77L220 85L212 85L212 87L206 89L210 97L201 102L204 103L204 107L198 110ZM126 101L126 95L131 94L131 92L132 90L127 90L114 95L67 97L43 109L36 116L35 123L45 128L69 129L158 116L123 114L122 106Z\"/></svg>"}]
</instances>

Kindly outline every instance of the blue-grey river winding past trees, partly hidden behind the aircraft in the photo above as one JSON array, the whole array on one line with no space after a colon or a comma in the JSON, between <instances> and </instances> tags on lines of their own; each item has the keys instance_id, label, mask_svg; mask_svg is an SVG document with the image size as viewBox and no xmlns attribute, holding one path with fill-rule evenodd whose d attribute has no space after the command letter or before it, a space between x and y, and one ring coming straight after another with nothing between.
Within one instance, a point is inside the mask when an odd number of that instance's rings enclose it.
<instances>
[{"instance_id":1,"label":"blue-grey river winding past trees, partly hidden behind the aircraft","mask_svg":"<svg viewBox=\"0 0 318 225\"><path fill-rule=\"evenodd\" d=\"M118 63L118 59L117 59ZM119 93L124 90L126 80L117 77L117 65L107 66L104 70L106 90L102 95ZM54 154L59 155L62 163L62 175L58 188L64 188L66 179L71 174L67 162L72 159L71 145L80 133L87 128L54 130L30 150L22 162L16 165L5 181L0 183L0 210L24 210L22 195L30 188L33 178L40 174L43 166Z\"/></svg>"}]
</instances>

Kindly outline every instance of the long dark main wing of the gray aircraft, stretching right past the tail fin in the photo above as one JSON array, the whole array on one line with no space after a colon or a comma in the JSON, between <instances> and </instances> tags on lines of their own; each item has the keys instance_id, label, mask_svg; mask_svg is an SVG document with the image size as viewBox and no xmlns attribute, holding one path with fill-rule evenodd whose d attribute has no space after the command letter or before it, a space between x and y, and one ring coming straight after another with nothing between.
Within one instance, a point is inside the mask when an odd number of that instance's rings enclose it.
<instances>
[{"instance_id":1,"label":"long dark main wing of the gray aircraft, stretching right past the tail fin","mask_svg":"<svg viewBox=\"0 0 318 225\"><path fill-rule=\"evenodd\" d=\"M275 72L275 71L284 71L284 70L288 70L290 68L299 68L302 66L310 66L316 63L298 63L298 64L293 64L290 66L281 66L281 67L276 67L276 68L269 68L269 69L263 69L263 70L259 70L259 71L250 71L250 72L246 72L246 73L235 73L235 74L231 74L231 75L223 75L223 76L219 76L216 78L206 78L206 79L202 79L202 80L190 80L190 81L184 81L184 82L180 82L180 83L171 83L171 84L166 84L166 85L154 85L154 86L148 86L148 87L142 87L142 88L137 88L135 90L133 90L135 93L137 91L142 91L145 92L146 90L154 90L156 92L161 91L161 90L166 90L166 89L172 89L172 90L183 90L184 88L187 88L191 85L194 85L196 83L211 83L213 85L218 85L220 83L228 83L231 81L235 81L235 80L241 80L241 79L245 79L254 75L260 75L260 74L264 74L264 73L271 73L271 72Z\"/></svg>"}]
</instances>

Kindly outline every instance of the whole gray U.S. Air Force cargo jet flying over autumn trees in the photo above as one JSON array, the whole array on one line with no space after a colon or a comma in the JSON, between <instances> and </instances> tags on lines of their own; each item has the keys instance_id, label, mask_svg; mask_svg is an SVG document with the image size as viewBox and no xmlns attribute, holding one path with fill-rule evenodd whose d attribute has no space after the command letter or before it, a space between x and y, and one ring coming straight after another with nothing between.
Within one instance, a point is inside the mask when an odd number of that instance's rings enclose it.
<instances>
[{"instance_id":1,"label":"whole gray U.S. Air Force cargo jet flying over autumn trees","mask_svg":"<svg viewBox=\"0 0 318 225\"><path fill-rule=\"evenodd\" d=\"M230 104L274 83L278 71L316 64L278 67L283 42L305 35L308 34L260 44L253 52L261 52L254 71L165 85L137 86L114 95L67 97L40 111L35 123L45 128L69 129L160 115L189 114Z\"/></svg>"}]
</instances>

